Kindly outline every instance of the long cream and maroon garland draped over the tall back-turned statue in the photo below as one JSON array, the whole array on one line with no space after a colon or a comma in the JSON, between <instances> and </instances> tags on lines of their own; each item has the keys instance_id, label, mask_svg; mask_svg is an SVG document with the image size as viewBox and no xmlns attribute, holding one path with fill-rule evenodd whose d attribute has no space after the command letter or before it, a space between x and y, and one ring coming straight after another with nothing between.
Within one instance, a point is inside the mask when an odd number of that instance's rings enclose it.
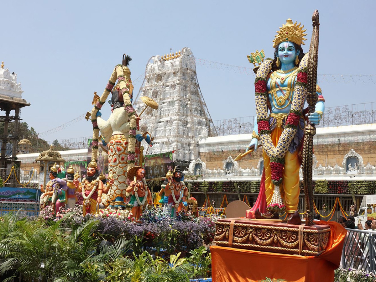
<instances>
[{"instance_id":1,"label":"long cream and maroon garland draped over the tall back-turned statue","mask_svg":"<svg viewBox=\"0 0 376 282\"><path fill-rule=\"evenodd\" d=\"M132 80L130 79L130 70L123 65L116 65L114 71L111 74L110 79L106 85L102 96L96 102L91 110L91 123L93 126L93 139L91 144L91 159L97 160L98 145L99 145L99 127L97 123L97 112L105 104L106 99L112 89L115 86L115 82L118 80L121 93L123 94L124 110L127 111L129 116L129 135L128 135L128 166L127 171L134 167L135 164L135 145L136 145L136 113L135 109L130 102L129 93L133 91Z\"/></svg>"}]
</instances>

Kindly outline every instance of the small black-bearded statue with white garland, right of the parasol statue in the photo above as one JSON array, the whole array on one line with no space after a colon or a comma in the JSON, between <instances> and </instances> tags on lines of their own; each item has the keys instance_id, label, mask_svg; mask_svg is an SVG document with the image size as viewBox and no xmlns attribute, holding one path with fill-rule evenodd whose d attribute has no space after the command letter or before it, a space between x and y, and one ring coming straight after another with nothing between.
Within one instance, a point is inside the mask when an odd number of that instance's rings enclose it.
<instances>
[{"instance_id":1,"label":"small black-bearded statue with white garland, right of the parasol statue","mask_svg":"<svg viewBox=\"0 0 376 282\"><path fill-rule=\"evenodd\" d=\"M172 175L168 177L168 183L165 187L165 194L167 191L169 192L167 212L172 218L175 218L177 212L183 208L183 202L186 202L188 196L188 188L186 188L182 179L182 170L180 165L177 165Z\"/></svg>"}]
</instances>

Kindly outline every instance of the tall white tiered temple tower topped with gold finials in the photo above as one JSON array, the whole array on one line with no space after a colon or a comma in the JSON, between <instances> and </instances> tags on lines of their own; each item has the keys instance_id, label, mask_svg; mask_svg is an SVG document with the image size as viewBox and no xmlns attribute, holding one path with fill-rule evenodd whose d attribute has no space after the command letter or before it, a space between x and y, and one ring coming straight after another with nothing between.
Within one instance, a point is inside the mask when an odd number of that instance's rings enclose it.
<instances>
[{"instance_id":1,"label":"tall white tiered temple tower topped with gold finials","mask_svg":"<svg viewBox=\"0 0 376 282\"><path fill-rule=\"evenodd\" d=\"M191 49L185 47L175 54L150 59L144 83L135 99L136 112L144 107L138 99L141 96L150 97L159 105L158 111L147 109L139 122L140 130L154 137L154 145L147 155L174 150L174 161L194 160L199 156L199 139L215 135L209 130L212 120L197 81ZM200 170L200 174L202 172Z\"/></svg>"}]
</instances>

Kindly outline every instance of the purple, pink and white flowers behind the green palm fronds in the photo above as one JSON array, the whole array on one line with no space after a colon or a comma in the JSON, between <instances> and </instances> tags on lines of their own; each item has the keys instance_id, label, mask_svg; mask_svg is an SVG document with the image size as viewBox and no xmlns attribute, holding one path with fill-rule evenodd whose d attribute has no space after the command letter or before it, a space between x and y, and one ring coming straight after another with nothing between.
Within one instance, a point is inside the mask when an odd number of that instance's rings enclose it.
<instances>
[{"instance_id":1,"label":"purple, pink and white flowers behind the green palm fronds","mask_svg":"<svg viewBox=\"0 0 376 282\"><path fill-rule=\"evenodd\" d=\"M98 221L97 233L105 240L114 242L120 237L130 240L136 253L144 250L154 252L177 253L190 252L202 244L209 245L214 239L215 221L218 217L193 217L184 209L176 219L170 218L162 208L146 209L141 216L142 223L132 221L132 213L121 209L101 209L96 215L87 215ZM50 206L42 209L39 220L45 223L61 220L67 229L80 226L82 206L61 209L55 216Z\"/></svg>"}]
</instances>

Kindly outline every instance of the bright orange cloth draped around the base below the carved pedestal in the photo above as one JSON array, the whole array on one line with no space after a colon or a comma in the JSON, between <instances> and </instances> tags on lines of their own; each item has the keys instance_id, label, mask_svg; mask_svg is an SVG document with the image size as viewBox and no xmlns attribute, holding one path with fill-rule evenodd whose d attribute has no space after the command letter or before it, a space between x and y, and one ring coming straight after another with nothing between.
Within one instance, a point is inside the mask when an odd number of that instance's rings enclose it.
<instances>
[{"instance_id":1,"label":"bright orange cloth draped around the base below the carved pedestal","mask_svg":"<svg viewBox=\"0 0 376 282\"><path fill-rule=\"evenodd\" d=\"M256 282L266 277L288 282L334 281L334 270L340 264L346 230L336 222L319 221L317 224L331 227L327 250L318 257L210 247L212 281Z\"/></svg>"}]
</instances>

